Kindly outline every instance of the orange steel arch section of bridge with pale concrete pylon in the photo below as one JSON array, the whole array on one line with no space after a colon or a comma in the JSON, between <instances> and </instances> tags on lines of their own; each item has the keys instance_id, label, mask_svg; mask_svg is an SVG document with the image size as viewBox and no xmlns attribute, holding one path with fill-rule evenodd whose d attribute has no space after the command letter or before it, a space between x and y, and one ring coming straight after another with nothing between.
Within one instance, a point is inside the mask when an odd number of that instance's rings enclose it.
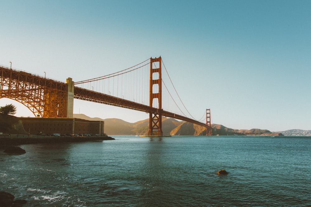
<instances>
[{"instance_id":1,"label":"orange steel arch section of bridge with pale concrete pylon","mask_svg":"<svg viewBox=\"0 0 311 207\"><path fill-rule=\"evenodd\" d=\"M0 74L0 98L10 98L22 103L35 116L73 116L74 87L71 78L62 83L1 66Z\"/></svg>"}]
</instances>

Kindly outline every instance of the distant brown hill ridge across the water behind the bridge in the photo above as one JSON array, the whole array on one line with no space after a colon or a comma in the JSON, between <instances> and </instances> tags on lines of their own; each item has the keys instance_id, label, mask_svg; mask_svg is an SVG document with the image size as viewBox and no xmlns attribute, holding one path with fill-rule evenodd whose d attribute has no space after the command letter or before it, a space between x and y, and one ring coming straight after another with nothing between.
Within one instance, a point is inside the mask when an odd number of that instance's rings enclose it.
<instances>
[{"instance_id":1,"label":"distant brown hill ridge across the water behind the bridge","mask_svg":"<svg viewBox=\"0 0 311 207\"><path fill-rule=\"evenodd\" d=\"M110 118L101 119L98 117L91 118L84 114L74 114L74 118L104 121L104 132L108 135L147 135L149 129L149 119L137 121L135 123L129 123L122 119ZM227 128L220 124L212 124L213 135L266 135L266 136L282 136L283 132L270 132L267 129L232 129ZM164 135L205 135L206 128L188 123L185 121L178 121L172 118L162 117L162 130ZM290 131L290 130L288 130ZM303 131L303 130L302 130ZM310 134L310 135L305 135ZM301 134L296 134L301 135ZM309 133L302 134L304 136L311 136L311 130ZM292 134L290 134L292 136Z\"/></svg>"}]
</instances>

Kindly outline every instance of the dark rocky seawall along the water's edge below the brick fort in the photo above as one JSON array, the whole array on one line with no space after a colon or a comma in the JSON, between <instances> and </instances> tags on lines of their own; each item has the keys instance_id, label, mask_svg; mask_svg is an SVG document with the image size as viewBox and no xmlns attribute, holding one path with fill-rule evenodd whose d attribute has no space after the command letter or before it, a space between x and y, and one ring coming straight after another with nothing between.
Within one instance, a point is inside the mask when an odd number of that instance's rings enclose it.
<instances>
[{"instance_id":1,"label":"dark rocky seawall along the water's edge below the brick fort","mask_svg":"<svg viewBox=\"0 0 311 207\"><path fill-rule=\"evenodd\" d=\"M0 146L43 144L43 143L64 143L64 142L90 142L97 140L114 140L109 136L90 137L0 137Z\"/></svg>"}]
</instances>

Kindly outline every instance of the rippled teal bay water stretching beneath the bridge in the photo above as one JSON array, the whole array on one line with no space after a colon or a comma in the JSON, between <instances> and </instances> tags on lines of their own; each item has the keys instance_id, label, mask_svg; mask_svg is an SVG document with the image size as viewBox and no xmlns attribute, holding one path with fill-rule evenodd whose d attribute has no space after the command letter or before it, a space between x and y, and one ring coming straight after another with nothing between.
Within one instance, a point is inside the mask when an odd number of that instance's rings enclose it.
<instances>
[{"instance_id":1,"label":"rippled teal bay water stretching beneath the bridge","mask_svg":"<svg viewBox=\"0 0 311 207\"><path fill-rule=\"evenodd\" d=\"M0 191L24 206L311 206L311 137L112 137L2 146Z\"/></svg>"}]
</instances>

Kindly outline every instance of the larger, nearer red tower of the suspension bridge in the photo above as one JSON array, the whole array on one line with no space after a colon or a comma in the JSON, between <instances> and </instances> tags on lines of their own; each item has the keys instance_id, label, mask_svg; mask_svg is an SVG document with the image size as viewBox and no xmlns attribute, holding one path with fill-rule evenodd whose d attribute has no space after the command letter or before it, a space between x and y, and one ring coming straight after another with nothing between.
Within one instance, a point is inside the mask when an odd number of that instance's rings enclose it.
<instances>
[{"instance_id":1,"label":"larger, nearer red tower of the suspension bridge","mask_svg":"<svg viewBox=\"0 0 311 207\"><path fill-rule=\"evenodd\" d=\"M163 136L161 56L158 58L150 58L150 107L154 106L154 101L155 103L158 101L158 108L157 112L149 112L148 136Z\"/></svg>"}]
</instances>

